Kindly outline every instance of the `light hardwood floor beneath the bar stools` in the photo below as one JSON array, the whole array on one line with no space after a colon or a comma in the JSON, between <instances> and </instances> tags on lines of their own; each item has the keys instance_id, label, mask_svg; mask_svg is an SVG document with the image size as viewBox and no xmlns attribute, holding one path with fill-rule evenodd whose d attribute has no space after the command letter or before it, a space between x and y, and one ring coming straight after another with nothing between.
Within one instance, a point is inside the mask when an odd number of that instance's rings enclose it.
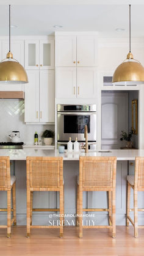
<instances>
[{"instance_id":1,"label":"light hardwood floor beneath the bar stools","mask_svg":"<svg viewBox=\"0 0 144 256\"><path fill-rule=\"evenodd\" d=\"M65 227L64 238L59 238L58 229L34 229L31 238L26 238L26 227L12 227L12 237L6 238L6 229L0 229L0 255L40 255L40 256L143 256L144 230L139 230L139 238L134 238L132 227L117 227L117 238L111 237L110 230L84 230L83 238L78 238L76 227Z\"/></svg>"}]
</instances>

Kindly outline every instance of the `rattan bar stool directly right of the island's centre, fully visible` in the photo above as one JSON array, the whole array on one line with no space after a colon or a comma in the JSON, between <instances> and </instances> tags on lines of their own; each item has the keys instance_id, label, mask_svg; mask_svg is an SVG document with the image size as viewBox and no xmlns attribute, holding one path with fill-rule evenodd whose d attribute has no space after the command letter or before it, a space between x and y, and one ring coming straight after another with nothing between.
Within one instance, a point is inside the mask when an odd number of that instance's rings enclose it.
<instances>
[{"instance_id":1,"label":"rattan bar stool directly right of the island's centre, fully visible","mask_svg":"<svg viewBox=\"0 0 144 256\"><path fill-rule=\"evenodd\" d=\"M112 237L116 236L115 227L115 184L116 184L117 158L81 156L79 158L79 178L77 179L77 223L79 225L79 237L82 238L83 228L107 228L112 229ZM108 191L109 208L89 208L82 206L83 191ZM83 225L83 211L108 211L109 225Z\"/></svg>"}]
</instances>

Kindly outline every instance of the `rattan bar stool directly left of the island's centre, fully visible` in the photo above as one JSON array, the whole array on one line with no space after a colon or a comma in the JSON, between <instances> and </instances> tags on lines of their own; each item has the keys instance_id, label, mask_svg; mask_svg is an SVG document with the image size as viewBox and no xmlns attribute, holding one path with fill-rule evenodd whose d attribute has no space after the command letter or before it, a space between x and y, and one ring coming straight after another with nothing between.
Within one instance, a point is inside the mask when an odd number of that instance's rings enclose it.
<instances>
[{"instance_id":1,"label":"rattan bar stool directly left of the island's centre, fully visible","mask_svg":"<svg viewBox=\"0 0 144 256\"><path fill-rule=\"evenodd\" d=\"M27 238L32 228L58 228L63 237L63 158L27 156ZM59 191L60 208L32 208L34 191ZM59 211L60 225L32 225L32 211Z\"/></svg>"}]
</instances>

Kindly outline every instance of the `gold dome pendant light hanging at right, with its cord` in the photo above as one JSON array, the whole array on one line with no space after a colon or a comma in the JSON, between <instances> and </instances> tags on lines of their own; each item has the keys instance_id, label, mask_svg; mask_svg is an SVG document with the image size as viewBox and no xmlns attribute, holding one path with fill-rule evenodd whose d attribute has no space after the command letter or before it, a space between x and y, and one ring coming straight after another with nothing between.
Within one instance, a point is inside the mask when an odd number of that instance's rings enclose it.
<instances>
[{"instance_id":1,"label":"gold dome pendant light hanging at right, with its cord","mask_svg":"<svg viewBox=\"0 0 144 256\"><path fill-rule=\"evenodd\" d=\"M129 5L129 53L127 59L115 70L112 83L124 86L144 84L144 68L131 53L131 5Z\"/></svg>"}]
</instances>

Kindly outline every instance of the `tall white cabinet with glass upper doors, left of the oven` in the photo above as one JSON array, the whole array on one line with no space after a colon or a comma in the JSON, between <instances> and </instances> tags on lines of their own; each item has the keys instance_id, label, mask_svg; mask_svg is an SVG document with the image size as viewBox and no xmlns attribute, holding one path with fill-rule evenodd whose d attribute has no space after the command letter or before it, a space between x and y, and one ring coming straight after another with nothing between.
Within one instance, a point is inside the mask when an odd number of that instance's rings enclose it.
<instances>
[{"instance_id":1,"label":"tall white cabinet with glass upper doors, left of the oven","mask_svg":"<svg viewBox=\"0 0 144 256\"><path fill-rule=\"evenodd\" d=\"M54 37L25 40L26 123L54 123Z\"/></svg>"}]
</instances>

